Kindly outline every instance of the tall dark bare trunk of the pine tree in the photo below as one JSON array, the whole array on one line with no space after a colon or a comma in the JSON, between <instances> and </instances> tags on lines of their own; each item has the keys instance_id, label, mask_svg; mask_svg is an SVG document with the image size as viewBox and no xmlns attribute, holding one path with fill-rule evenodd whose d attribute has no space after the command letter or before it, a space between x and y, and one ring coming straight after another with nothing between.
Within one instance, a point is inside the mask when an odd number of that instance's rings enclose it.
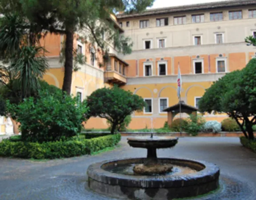
<instances>
[{"instance_id":1,"label":"tall dark bare trunk of the pine tree","mask_svg":"<svg viewBox=\"0 0 256 200\"><path fill-rule=\"evenodd\" d=\"M64 81L62 86L62 91L67 92L69 95L71 93L71 83L72 83L72 72L73 72L73 42L74 33L72 31L66 31L66 41L65 41L65 64L64 64Z\"/></svg>"}]
</instances>

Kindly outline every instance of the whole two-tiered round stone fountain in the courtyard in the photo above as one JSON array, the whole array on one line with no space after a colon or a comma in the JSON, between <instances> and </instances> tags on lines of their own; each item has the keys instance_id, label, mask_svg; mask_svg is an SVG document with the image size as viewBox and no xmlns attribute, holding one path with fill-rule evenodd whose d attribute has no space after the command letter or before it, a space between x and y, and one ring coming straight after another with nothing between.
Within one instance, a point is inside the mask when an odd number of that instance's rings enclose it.
<instances>
[{"instance_id":1,"label":"whole two-tiered round stone fountain in the courtyard","mask_svg":"<svg viewBox=\"0 0 256 200\"><path fill-rule=\"evenodd\" d=\"M220 169L198 160L157 158L156 149L172 148L176 137L134 137L128 144L146 148L146 158L108 160L89 166L88 187L113 198L171 200L206 194L219 187Z\"/></svg>"}]
</instances>

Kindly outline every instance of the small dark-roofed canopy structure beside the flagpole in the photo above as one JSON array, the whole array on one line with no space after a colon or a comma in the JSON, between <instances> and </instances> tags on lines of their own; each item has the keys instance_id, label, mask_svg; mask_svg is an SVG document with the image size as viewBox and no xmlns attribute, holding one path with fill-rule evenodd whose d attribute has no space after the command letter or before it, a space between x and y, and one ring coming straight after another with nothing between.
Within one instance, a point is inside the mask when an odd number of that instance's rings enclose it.
<instances>
[{"instance_id":1,"label":"small dark-roofed canopy structure beside the flagpole","mask_svg":"<svg viewBox=\"0 0 256 200\"><path fill-rule=\"evenodd\" d=\"M172 120L173 118L180 113L180 106L181 106L181 113L185 112L188 115L194 114L196 115L198 109L196 107L190 106L185 104L184 101L180 101L180 103L175 104L169 108L165 108L163 111L167 112L167 121L168 121L168 125L171 126L172 125Z\"/></svg>"}]
</instances>

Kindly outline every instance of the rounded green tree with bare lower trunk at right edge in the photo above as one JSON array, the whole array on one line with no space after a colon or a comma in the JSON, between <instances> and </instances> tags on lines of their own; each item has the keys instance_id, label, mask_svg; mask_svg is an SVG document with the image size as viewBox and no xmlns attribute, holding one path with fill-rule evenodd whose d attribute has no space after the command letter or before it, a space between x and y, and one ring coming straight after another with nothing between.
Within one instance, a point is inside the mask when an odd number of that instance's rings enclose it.
<instances>
[{"instance_id":1,"label":"rounded green tree with bare lower trunk at right edge","mask_svg":"<svg viewBox=\"0 0 256 200\"><path fill-rule=\"evenodd\" d=\"M212 84L201 98L199 109L201 112L227 113L236 120L244 136L254 140L255 102L256 59L252 59L242 70L230 72Z\"/></svg>"}]
</instances>

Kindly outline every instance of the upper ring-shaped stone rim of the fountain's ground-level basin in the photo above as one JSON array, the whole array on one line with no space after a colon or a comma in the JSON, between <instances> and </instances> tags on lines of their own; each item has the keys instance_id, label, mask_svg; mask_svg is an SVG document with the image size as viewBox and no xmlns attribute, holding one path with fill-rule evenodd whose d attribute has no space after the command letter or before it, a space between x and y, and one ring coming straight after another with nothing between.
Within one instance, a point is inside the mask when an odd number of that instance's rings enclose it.
<instances>
[{"instance_id":1,"label":"upper ring-shaped stone rim of the fountain's ground-level basin","mask_svg":"<svg viewBox=\"0 0 256 200\"><path fill-rule=\"evenodd\" d=\"M128 158L105 160L99 163L91 164L88 167L87 175L89 178L101 183L120 185L124 187L135 188L169 188L169 187L186 187L190 185L204 184L215 181L220 176L220 168L216 164L212 164L202 160L178 159L178 158L158 158L159 160L175 160L180 162L191 162L192 164L200 164L204 169L191 174L172 176L133 176L109 172L102 168L104 164L129 160L134 163L136 160L144 160L146 158ZM134 162L132 162L134 161Z\"/></svg>"}]
</instances>

